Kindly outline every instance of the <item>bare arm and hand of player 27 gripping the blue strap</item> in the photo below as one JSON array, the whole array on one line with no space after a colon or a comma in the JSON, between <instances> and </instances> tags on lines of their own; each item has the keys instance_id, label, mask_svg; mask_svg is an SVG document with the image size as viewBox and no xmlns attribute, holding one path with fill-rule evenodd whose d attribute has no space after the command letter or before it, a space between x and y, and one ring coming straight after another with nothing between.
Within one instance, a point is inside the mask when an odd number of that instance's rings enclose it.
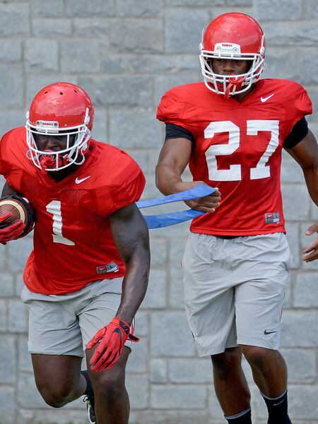
<instances>
[{"instance_id":1,"label":"bare arm and hand of player 27 gripping the blue strap","mask_svg":"<svg viewBox=\"0 0 318 424\"><path fill-rule=\"evenodd\" d=\"M187 139L167 139L160 152L155 168L155 181L163 194L182 192L201 184L201 181L184 182L181 175L189 163L192 143ZM220 192L211 196L185 201L189 208L204 212L214 212L220 204Z\"/></svg>"}]
</instances>

